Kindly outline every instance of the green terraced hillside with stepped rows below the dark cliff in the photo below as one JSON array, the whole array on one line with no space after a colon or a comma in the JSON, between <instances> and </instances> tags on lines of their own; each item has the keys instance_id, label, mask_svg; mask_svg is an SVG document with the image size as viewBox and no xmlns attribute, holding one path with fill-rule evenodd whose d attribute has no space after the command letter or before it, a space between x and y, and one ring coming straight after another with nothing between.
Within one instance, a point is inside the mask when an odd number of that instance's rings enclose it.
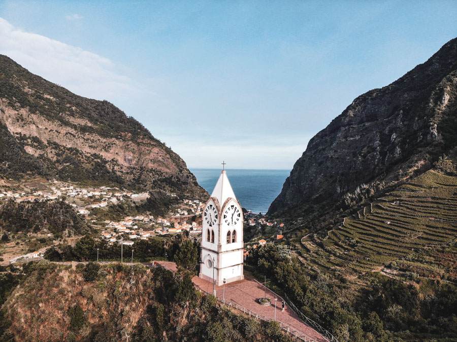
<instances>
[{"instance_id":1,"label":"green terraced hillside with stepped rows below the dark cliff","mask_svg":"<svg viewBox=\"0 0 457 342\"><path fill-rule=\"evenodd\" d=\"M389 265L455 280L456 241L457 177L430 170L302 244L316 271L348 276Z\"/></svg>"}]
</instances>

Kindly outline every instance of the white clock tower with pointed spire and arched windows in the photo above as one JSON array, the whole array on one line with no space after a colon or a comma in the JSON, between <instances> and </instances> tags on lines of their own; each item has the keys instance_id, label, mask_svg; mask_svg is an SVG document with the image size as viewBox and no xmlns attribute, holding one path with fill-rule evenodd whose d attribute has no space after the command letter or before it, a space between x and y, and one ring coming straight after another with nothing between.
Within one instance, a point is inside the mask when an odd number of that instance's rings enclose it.
<instances>
[{"instance_id":1,"label":"white clock tower with pointed spire and arched windows","mask_svg":"<svg viewBox=\"0 0 457 342\"><path fill-rule=\"evenodd\" d=\"M200 278L216 286L244 279L243 211L221 171L210 199L203 209Z\"/></svg>"}]
</instances>

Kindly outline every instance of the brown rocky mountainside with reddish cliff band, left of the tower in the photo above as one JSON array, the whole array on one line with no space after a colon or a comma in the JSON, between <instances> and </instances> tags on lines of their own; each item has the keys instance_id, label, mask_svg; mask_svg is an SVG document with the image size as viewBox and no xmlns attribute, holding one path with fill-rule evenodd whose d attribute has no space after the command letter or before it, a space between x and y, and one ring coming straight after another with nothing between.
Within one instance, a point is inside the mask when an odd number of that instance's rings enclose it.
<instances>
[{"instance_id":1,"label":"brown rocky mountainside with reddish cliff band, left of the tower","mask_svg":"<svg viewBox=\"0 0 457 342\"><path fill-rule=\"evenodd\" d=\"M75 95L0 55L0 173L205 196L184 161L107 101Z\"/></svg>"}]
</instances>

